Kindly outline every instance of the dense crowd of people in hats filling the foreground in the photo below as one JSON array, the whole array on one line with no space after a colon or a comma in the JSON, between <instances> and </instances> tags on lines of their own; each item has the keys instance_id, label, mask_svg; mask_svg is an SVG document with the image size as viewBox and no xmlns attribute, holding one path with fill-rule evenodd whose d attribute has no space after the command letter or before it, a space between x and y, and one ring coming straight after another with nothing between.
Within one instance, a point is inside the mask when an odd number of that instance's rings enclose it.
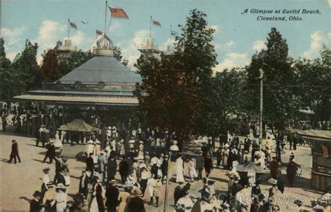
<instances>
[{"instance_id":1,"label":"dense crowd of people in hats filling the foreground","mask_svg":"<svg viewBox=\"0 0 331 212\"><path fill-rule=\"evenodd\" d=\"M65 134L42 124L36 134L36 146L41 143L46 148L43 162L55 162L55 176L49 176L52 167L43 169L41 190L34 192L30 211L146 211L146 204L161 206L167 180L177 185L170 211L279 211L273 197L284 192L286 181L281 176L281 164L273 156L277 146L272 134L266 134L265 143L259 143L257 132L258 125L252 125L244 139L228 131L215 137L192 136L183 144L177 141L175 132L128 132L101 125L101 130L89 134L89 141L84 143L85 167L71 203L69 162L61 156ZM276 136L281 143L290 143L291 151L296 150L299 140L295 137L281 133ZM185 145L194 148L180 152ZM21 162L17 142L13 141L8 162L16 163L16 159ZM260 188L263 179L238 170L245 166L270 172L268 194ZM224 192L214 187L214 169L227 172L228 189ZM286 167L288 186L294 186L299 175L300 165L291 153ZM197 183L202 186L196 188ZM243 197L250 197L251 202ZM293 205L300 209L302 202L295 201Z\"/></svg>"}]
</instances>

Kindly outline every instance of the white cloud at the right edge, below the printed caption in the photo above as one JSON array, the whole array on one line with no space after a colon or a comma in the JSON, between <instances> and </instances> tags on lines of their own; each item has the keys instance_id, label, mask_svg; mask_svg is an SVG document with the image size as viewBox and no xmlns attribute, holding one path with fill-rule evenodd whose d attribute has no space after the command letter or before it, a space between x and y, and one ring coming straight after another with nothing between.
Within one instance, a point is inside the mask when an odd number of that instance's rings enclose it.
<instances>
[{"instance_id":1,"label":"white cloud at the right edge, below the printed caption","mask_svg":"<svg viewBox=\"0 0 331 212\"><path fill-rule=\"evenodd\" d=\"M328 45L331 41L331 35L328 34L328 38L325 38L321 31L314 31L313 34L310 36L311 43L309 50L303 52L302 56L308 59L314 59L320 55L320 50L323 47L323 44Z\"/></svg>"}]
</instances>

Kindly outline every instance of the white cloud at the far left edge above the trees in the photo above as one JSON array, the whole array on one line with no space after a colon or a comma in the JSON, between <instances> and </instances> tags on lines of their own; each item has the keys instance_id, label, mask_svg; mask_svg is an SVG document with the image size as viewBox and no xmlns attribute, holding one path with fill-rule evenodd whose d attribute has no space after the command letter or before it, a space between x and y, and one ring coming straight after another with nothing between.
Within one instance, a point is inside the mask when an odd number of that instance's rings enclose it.
<instances>
[{"instance_id":1,"label":"white cloud at the far left edge above the trees","mask_svg":"<svg viewBox=\"0 0 331 212\"><path fill-rule=\"evenodd\" d=\"M6 57L13 61L18 52L22 51L22 34L25 31L25 27L18 27L15 29L1 28L1 37L5 41L4 47Z\"/></svg>"}]
</instances>

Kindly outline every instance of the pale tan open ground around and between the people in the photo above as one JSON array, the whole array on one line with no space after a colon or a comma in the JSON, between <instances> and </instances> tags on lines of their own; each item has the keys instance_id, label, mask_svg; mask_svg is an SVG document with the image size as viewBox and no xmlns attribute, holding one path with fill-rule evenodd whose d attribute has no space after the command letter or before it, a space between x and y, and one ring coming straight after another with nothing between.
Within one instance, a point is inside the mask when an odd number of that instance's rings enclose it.
<instances>
[{"instance_id":1,"label":"pale tan open ground around and between the people","mask_svg":"<svg viewBox=\"0 0 331 212\"><path fill-rule=\"evenodd\" d=\"M11 140L16 139L20 157L22 159L22 163L17 164L8 164L7 160L10 155L11 148ZM50 171L50 178L54 177L54 169L55 165L53 164L42 164L42 160L44 157L45 149L41 147L36 147L36 141L34 138L29 138L25 136L15 136L8 134L0 134L0 211L28 211L29 210L29 202L28 199L32 198L32 194L35 190L41 190L41 177L43 176L43 168L50 167L52 170ZM68 148L75 148L75 146L68 146ZM286 151L286 154L283 155L283 161L288 160L288 154L290 150ZM321 195L321 192L315 190L311 187L310 183L310 173L311 173L311 151L309 147L298 147L295 153L296 162L302 165L302 176L298 178L295 182L294 188L286 187L285 192L282 196L290 198L290 202L294 201L294 198L297 196L300 197L309 197L304 204L308 208L308 204L312 198L316 198ZM273 153L274 154L274 153ZM75 192L78 192L78 183L81 171L85 168L85 164L83 162L78 162L77 160L70 158L68 160L70 175L71 175L71 187L69 189L69 200L72 200L72 195ZM283 167L282 178L287 180L285 171L286 167ZM173 170L173 169L172 169ZM227 190L228 177L225 176L227 171L222 169L214 169L212 172L212 179L216 180L215 190L216 192L224 192ZM185 171L187 175L187 170ZM203 174L204 176L205 174ZM116 176L117 180L119 180L119 174ZM265 174L265 179L269 178L269 174ZM173 211L173 191L176 183L170 182L168 188L168 210ZM201 182L194 182L191 184L191 192L198 194L196 192L199 188L201 188ZM263 183L261 188L267 194L267 189L270 188L270 185L267 183ZM163 185L163 192L165 190L165 186ZM149 197L146 197L149 199ZM163 202L164 197L161 198L161 203L159 208L155 208L154 206L145 205L147 211L163 211ZM310 209L311 210L311 209ZM291 211L290 209L286 209L286 204L281 205L281 211Z\"/></svg>"}]
</instances>

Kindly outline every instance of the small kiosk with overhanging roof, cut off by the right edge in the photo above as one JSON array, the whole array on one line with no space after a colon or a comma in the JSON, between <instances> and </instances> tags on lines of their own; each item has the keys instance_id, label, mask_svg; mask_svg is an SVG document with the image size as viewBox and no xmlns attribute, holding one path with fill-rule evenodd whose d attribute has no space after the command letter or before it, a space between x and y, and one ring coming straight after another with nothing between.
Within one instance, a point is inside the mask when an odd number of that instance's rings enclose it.
<instances>
[{"instance_id":1,"label":"small kiosk with overhanging roof, cut off by the right edge","mask_svg":"<svg viewBox=\"0 0 331 212\"><path fill-rule=\"evenodd\" d=\"M331 186L331 131L304 130L297 131L297 134L311 144L311 185L327 191Z\"/></svg>"}]
</instances>

